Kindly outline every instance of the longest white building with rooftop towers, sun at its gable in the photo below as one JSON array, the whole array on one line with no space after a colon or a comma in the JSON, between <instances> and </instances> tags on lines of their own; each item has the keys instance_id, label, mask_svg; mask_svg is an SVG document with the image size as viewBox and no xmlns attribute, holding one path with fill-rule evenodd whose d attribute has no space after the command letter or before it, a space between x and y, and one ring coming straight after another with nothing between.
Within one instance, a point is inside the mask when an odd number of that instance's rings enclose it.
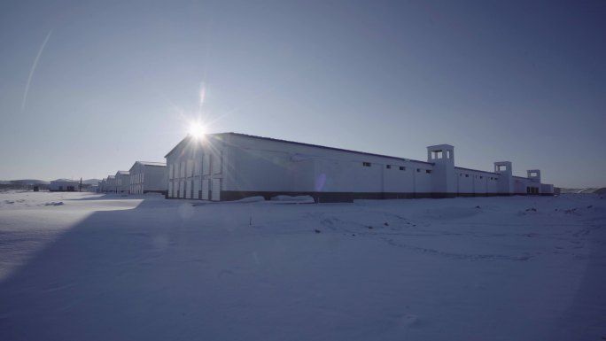
<instances>
[{"instance_id":1,"label":"longest white building with rooftop towers, sun at its gable","mask_svg":"<svg viewBox=\"0 0 606 341\"><path fill-rule=\"evenodd\" d=\"M168 152L167 198L235 200L309 195L316 202L357 198L553 195L540 171L514 176L455 167L455 147L427 147L427 162L237 133L185 137Z\"/></svg>"}]
</instances>

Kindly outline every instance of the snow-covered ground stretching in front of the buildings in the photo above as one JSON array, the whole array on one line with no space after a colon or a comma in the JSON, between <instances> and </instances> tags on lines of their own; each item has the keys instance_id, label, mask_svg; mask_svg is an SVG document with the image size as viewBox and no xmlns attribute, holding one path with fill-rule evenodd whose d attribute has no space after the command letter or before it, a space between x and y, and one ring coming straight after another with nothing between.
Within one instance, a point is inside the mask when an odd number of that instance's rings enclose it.
<instances>
[{"instance_id":1,"label":"snow-covered ground stretching in front of the buildings","mask_svg":"<svg viewBox=\"0 0 606 341\"><path fill-rule=\"evenodd\" d=\"M287 204L1 193L0 340L606 337L605 198Z\"/></svg>"}]
</instances>

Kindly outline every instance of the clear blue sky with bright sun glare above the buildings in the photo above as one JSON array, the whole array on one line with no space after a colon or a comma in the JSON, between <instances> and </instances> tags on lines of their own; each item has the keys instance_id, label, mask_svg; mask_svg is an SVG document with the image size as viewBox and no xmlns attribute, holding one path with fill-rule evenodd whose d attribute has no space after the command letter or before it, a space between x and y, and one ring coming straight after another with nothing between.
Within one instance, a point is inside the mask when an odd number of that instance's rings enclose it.
<instances>
[{"instance_id":1,"label":"clear blue sky with bright sun glare above the buildings","mask_svg":"<svg viewBox=\"0 0 606 341\"><path fill-rule=\"evenodd\" d=\"M606 2L8 1L0 179L162 161L234 131L606 186ZM35 63L37 61L37 63Z\"/></svg>"}]
</instances>

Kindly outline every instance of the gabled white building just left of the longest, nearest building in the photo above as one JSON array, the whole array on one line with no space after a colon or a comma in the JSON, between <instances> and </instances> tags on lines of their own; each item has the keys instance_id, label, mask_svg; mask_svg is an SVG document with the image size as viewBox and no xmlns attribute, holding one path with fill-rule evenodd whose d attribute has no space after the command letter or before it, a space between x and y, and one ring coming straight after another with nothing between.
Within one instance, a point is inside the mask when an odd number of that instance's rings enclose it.
<instances>
[{"instance_id":1,"label":"gabled white building just left of the longest, nearest building","mask_svg":"<svg viewBox=\"0 0 606 341\"><path fill-rule=\"evenodd\" d=\"M167 164L161 162L136 161L130 167L130 194L150 192L167 194Z\"/></svg>"}]
</instances>

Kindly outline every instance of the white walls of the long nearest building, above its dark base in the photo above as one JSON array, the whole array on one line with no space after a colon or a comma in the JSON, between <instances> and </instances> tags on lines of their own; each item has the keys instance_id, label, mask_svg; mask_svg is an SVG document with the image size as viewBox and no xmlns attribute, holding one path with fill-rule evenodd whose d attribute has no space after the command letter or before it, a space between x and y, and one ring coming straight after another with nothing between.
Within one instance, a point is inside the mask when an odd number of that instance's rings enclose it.
<instances>
[{"instance_id":1,"label":"white walls of the long nearest building, above its dark base","mask_svg":"<svg viewBox=\"0 0 606 341\"><path fill-rule=\"evenodd\" d=\"M453 194L501 193L508 181L507 174L450 167L454 154L446 161L442 175ZM211 182L233 192L431 194L439 176L428 162L231 134L186 138L167 155L167 166L169 198L216 198Z\"/></svg>"}]
</instances>

